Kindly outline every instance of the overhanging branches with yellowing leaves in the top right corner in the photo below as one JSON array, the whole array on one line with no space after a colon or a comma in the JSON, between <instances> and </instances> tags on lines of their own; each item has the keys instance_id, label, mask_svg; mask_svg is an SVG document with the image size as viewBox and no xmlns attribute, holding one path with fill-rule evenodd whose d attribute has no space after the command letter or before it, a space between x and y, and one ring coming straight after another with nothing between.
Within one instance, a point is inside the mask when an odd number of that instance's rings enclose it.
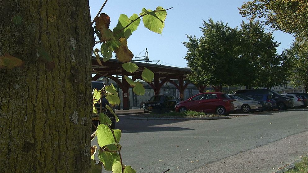
<instances>
[{"instance_id":1,"label":"overhanging branches with yellowing leaves in the top right corner","mask_svg":"<svg viewBox=\"0 0 308 173\"><path fill-rule=\"evenodd\" d=\"M244 2L239 13L286 33L308 35L306 0L251 0Z\"/></svg>"}]
</instances>

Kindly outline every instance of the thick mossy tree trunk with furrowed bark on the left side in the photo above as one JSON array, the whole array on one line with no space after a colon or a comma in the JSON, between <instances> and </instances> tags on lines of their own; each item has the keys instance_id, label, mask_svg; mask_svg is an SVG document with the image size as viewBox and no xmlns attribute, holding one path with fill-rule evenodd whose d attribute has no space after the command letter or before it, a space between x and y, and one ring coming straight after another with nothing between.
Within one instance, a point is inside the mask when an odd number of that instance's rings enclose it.
<instances>
[{"instance_id":1,"label":"thick mossy tree trunk with furrowed bark on the left side","mask_svg":"<svg viewBox=\"0 0 308 173\"><path fill-rule=\"evenodd\" d=\"M0 11L0 55L25 62L1 68L0 172L89 172L88 1L4 0Z\"/></svg>"}]
</instances>

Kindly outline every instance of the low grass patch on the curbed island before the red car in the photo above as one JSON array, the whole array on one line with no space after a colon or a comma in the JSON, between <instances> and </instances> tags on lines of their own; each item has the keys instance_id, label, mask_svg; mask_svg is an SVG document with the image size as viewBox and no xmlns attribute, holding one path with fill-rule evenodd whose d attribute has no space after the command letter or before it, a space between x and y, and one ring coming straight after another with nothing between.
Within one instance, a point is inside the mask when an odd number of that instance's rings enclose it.
<instances>
[{"instance_id":1,"label":"low grass patch on the curbed island before the red car","mask_svg":"<svg viewBox=\"0 0 308 173\"><path fill-rule=\"evenodd\" d=\"M153 118L202 118L202 117L220 117L217 114L207 114L203 112L195 112L195 111L184 111L184 112L169 112L157 114L151 112L149 115L142 115L143 117L153 117Z\"/></svg>"}]
</instances>

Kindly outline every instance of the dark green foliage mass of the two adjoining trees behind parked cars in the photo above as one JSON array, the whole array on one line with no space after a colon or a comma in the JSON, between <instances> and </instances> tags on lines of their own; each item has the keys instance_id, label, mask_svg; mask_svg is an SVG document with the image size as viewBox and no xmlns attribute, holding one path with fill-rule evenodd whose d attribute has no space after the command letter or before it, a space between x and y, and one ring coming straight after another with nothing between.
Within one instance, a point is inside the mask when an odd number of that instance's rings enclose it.
<instances>
[{"instance_id":1,"label":"dark green foliage mass of the two adjoining trees behind parked cars","mask_svg":"<svg viewBox=\"0 0 308 173\"><path fill-rule=\"evenodd\" d=\"M188 35L183 42L194 84L220 91L222 85L270 87L284 82L282 57L276 54L279 44L260 24L242 22L241 29L232 29L209 19L203 26L201 38Z\"/></svg>"}]
</instances>

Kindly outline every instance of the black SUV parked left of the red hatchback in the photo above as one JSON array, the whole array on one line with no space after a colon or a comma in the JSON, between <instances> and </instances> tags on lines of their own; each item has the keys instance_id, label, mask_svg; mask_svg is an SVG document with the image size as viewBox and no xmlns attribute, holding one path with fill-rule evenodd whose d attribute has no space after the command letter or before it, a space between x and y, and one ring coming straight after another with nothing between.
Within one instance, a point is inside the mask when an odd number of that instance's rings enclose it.
<instances>
[{"instance_id":1,"label":"black SUV parked left of the red hatchback","mask_svg":"<svg viewBox=\"0 0 308 173\"><path fill-rule=\"evenodd\" d=\"M176 100L173 95L161 94L153 95L148 102L143 103L142 109L144 113L149 113L149 111L164 112L169 110L174 110Z\"/></svg>"}]
</instances>

